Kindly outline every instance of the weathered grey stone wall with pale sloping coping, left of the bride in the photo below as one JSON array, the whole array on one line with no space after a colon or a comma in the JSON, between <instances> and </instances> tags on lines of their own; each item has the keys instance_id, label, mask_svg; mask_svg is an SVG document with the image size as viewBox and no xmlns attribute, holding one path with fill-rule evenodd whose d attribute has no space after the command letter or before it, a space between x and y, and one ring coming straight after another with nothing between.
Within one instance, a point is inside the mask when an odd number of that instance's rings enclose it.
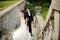
<instances>
[{"instance_id":1,"label":"weathered grey stone wall with pale sloping coping, left of the bride","mask_svg":"<svg viewBox=\"0 0 60 40\"><path fill-rule=\"evenodd\" d=\"M7 29L13 30L20 25L20 19L17 13L24 9L25 1L21 0L14 5L0 11L0 30Z\"/></svg>"}]
</instances>

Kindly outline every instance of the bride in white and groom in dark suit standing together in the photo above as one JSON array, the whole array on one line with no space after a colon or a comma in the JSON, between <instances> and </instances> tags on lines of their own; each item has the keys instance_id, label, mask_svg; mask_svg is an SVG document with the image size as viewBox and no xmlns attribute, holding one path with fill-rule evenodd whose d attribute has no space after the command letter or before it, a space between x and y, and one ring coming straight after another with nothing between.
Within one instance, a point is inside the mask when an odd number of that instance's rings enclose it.
<instances>
[{"instance_id":1,"label":"bride in white and groom in dark suit standing together","mask_svg":"<svg viewBox=\"0 0 60 40\"><path fill-rule=\"evenodd\" d=\"M32 14L27 8L25 11L22 11L22 15L18 15L21 19L20 27L14 32L13 40L32 40L32 29L31 22L33 21Z\"/></svg>"}]
</instances>

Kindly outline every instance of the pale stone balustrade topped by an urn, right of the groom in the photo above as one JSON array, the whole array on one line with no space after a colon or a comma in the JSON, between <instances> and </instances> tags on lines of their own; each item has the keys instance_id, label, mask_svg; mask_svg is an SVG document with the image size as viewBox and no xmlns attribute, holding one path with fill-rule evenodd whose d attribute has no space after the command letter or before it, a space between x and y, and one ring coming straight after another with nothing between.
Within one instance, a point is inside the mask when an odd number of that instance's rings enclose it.
<instances>
[{"instance_id":1,"label":"pale stone balustrade topped by an urn, right of the groom","mask_svg":"<svg viewBox=\"0 0 60 40\"><path fill-rule=\"evenodd\" d=\"M35 37L36 37L35 40L38 40L39 39L39 33L40 33L40 31L42 29L42 26L44 24L44 19L41 16L41 7L36 6L35 10L36 10L36 16L34 17L34 27L35 27L35 30L36 30L35 31Z\"/></svg>"}]
</instances>

